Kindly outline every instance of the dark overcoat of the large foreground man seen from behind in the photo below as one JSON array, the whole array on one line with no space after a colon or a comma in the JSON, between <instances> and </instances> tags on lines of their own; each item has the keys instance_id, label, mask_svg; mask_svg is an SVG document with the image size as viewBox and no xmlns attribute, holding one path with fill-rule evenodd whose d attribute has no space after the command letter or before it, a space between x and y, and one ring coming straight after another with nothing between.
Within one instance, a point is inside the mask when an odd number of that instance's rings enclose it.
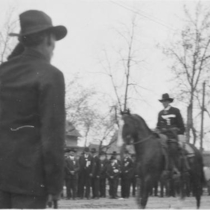
<instances>
[{"instance_id":1,"label":"dark overcoat of the large foreground man seen from behind","mask_svg":"<svg viewBox=\"0 0 210 210\"><path fill-rule=\"evenodd\" d=\"M0 190L61 191L64 95L63 74L35 50L0 66Z\"/></svg>"}]
</instances>

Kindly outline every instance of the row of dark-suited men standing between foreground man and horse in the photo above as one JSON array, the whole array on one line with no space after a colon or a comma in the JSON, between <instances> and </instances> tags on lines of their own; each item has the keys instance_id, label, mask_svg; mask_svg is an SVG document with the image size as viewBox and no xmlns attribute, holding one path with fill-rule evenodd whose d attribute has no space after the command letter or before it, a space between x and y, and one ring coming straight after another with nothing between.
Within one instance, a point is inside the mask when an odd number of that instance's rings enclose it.
<instances>
[{"instance_id":1,"label":"row of dark-suited men standing between foreground man and horse","mask_svg":"<svg viewBox=\"0 0 210 210\"><path fill-rule=\"evenodd\" d=\"M65 199L99 199L135 196L137 173L135 156L125 151L122 161L95 148L85 148L81 155L75 149L65 153ZM120 193L119 193L119 191ZM107 194L108 192L108 194Z\"/></svg>"}]
</instances>

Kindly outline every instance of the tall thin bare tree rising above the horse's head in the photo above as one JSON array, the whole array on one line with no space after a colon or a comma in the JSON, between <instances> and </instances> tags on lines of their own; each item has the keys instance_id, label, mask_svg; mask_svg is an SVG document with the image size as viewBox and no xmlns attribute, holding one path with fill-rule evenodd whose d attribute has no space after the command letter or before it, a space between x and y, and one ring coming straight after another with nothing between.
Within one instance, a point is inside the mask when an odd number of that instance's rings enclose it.
<instances>
[{"instance_id":1,"label":"tall thin bare tree rising above the horse's head","mask_svg":"<svg viewBox=\"0 0 210 210\"><path fill-rule=\"evenodd\" d=\"M120 43L115 43L112 52L103 50L103 59L100 64L104 69L105 75L110 77L115 94L113 106L121 111L129 107L133 92L139 94L138 82L132 77L133 72L140 69L139 59L139 27L136 15L131 19L131 24L121 24L121 28L115 30L118 34ZM118 45L119 44L119 45ZM115 54L113 56L113 54ZM113 59L114 57L114 59ZM117 82L118 81L118 82Z\"/></svg>"}]
</instances>

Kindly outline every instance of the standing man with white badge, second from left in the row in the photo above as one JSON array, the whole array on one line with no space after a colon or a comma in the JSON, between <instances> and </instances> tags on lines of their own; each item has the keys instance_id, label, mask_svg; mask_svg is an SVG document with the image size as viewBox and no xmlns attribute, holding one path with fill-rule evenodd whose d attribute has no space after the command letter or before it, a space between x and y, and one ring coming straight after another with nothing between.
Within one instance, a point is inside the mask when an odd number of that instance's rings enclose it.
<instances>
[{"instance_id":1,"label":"standing man with white badge, second from left in the row","mask_svg":"<svg viewBox=\"0 0 210 210\"><path fill-rule=\"evenodd\" d=\"M84 149L84 154L79 158L79 166L78 196L81 199L83 199L84 196L90 199L90 187L93 177L93 158L90 155L88 147Z\"/></svg>"}]
</instances>

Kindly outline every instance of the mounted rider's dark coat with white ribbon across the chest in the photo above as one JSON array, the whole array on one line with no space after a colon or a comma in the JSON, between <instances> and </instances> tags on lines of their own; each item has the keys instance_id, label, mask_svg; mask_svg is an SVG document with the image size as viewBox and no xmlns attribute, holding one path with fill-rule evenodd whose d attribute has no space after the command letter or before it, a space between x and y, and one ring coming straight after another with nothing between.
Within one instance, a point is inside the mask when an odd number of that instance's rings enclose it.
<instances>
[{"instance_id":1,"label":"mounted rider's dark coat with white ribbon across the chest","mask_svg":"<svg viewBox=\"0 0 210 210\"><path fill-rule=\"evenodd\" d=\"M168 107L168 109L163 109L158 114L157 128L172 128L176 127L179 129L178 134L184 134L185 127L183 119L179 109L175 107Z\"/></svg>"}]
</instances>

